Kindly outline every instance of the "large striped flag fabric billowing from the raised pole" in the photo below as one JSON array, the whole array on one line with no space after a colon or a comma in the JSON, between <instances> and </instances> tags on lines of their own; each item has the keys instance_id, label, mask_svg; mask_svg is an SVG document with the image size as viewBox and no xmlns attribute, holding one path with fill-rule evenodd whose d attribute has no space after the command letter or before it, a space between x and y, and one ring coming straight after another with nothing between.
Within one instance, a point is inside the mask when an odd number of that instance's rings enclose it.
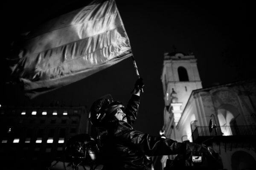
<instances>
[{"instance_id":1,"label":"large striped flag fabric billowing from the raised pole","mask_svg":"<svg viewBox=\"0 0 256 170\"><path fill-rule=\"evenodd\" d=\"M76 82L132 55L114 0L94 0L31 31L12 75L26 96Z\"/></svg>"}]
</instances>

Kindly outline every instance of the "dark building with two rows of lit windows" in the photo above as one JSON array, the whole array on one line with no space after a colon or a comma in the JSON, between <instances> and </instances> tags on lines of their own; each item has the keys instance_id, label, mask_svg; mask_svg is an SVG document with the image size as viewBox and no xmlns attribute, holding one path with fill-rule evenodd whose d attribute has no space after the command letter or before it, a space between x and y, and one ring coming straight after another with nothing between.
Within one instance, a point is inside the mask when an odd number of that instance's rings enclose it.
<instances>
[{"instance_id":1,"label":"dark building with two rows of lit windows","mask_svg":"<svg viewBox=\"0 0 256 170\"><path fill-rule=\"evenodd\" d=\"M45 170L67 140L90 131L85 107L0 107L0 169Z\"/></svg>"}]
</instances>

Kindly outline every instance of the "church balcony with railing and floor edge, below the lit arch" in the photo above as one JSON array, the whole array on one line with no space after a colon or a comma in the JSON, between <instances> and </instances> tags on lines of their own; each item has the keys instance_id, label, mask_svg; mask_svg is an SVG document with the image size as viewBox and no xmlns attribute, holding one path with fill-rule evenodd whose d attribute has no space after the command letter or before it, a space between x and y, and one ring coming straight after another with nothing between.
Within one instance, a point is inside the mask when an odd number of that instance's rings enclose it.
<instances>
[{"instance_id":1,"label":"church balcony with railing and floor edge, below the lit arch","mask_svg":"<svg viewBox=\"0 0 256 170\"><path fill-rule=\"evenodd\" d=\"M216 136L216 140L245 140L256 139L256 125L250 126L217 126L216 131L213 129L209 132L208 126L198 126L192 133L193 141L196 143L204 142L211 136Z\"/></svg>"}]
</instances>

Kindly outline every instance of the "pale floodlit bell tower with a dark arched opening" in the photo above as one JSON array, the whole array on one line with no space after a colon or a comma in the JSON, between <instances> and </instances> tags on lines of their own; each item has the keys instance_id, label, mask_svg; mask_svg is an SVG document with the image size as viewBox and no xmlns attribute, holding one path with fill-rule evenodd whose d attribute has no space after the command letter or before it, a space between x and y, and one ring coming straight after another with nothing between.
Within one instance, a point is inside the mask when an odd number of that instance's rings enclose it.
<instances>
[{"instance_id":1,"label":"pale floodlit bell tower with a dark arched opening","mask_svg":"<svg viewBox=\"0 0 256 170\"><path fill-rule=\"evenodd\" d=\"M173 114L172 121L177 125L191 92L202 88L197 59L193 54L165 53L161 80L165 101L164 124L170 123L167 121Z\"/></svg>"}]
</instances>

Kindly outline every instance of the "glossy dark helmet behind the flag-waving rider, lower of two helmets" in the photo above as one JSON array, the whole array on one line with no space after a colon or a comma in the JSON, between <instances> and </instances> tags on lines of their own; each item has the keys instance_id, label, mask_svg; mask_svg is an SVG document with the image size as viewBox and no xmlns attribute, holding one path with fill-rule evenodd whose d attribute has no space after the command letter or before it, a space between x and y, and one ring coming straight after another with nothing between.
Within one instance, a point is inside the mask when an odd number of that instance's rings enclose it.
<instances>
[{"instance_id":1,"label":"glossy dark helmet behind the flag-waving rider, lower of two helmets","mask_svg":"<svg viewBox=\"0 0 256 170\"><path fill-rule=\"evenodd\" d=\"M92 163L98 154L99 147L96 141L87 133L73 136L67 141L65 155L72 161Z\"/></svg>"}]
</instances>

